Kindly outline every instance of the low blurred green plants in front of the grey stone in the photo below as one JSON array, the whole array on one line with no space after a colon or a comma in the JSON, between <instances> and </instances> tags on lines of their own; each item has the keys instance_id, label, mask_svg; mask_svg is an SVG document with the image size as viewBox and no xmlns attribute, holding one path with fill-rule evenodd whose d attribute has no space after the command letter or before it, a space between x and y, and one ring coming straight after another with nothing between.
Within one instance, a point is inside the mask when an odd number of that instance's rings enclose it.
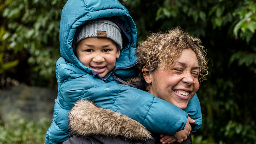
<instances>
[{"instance_id":1,"label":"low blurred green plants in front of the grey stone","mask_svg":"<svg viewBox=\"0 0 256 144\"><path fill-rule=\"evenodd\" d=\"M42 144L50 124L46 118L33 122L13 116L9 123L0 125L0 144Z\"/></svg>"}]
</instances>

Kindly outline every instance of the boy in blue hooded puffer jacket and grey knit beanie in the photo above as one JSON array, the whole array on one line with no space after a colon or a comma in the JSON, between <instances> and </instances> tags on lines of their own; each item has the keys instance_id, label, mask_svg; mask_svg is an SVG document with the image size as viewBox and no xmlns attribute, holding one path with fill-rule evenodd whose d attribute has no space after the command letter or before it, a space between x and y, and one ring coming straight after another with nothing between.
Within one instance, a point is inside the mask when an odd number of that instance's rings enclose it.
<instances>
[{"instance_id":1,"label":"boy in blue hooded puffer jacket and grey knit beanie","mask_svg":"<svg viewBox=\"0 0 256 144\"><path fill-rule=\"evenodd\" d=\"M103 29L97 29L96 25ZM92 99L104 109L140 122L151 132L174 135L184 128L186 112L117 81L137 75L136 35L129 12L118 1L68 0L60 22L62 57L56 62L58 97L45 143L62 143L68 139L67 114L79 99ZM196 120L196 131L202 124L201 108L197 97L191 102L188 111Z\"/></svg>"}]
</instances>

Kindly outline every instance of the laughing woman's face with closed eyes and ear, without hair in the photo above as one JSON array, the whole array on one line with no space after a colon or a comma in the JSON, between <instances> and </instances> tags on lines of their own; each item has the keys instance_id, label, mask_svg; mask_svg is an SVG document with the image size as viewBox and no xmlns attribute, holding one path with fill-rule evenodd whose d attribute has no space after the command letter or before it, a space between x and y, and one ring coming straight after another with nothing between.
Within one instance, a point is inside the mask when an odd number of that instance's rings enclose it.
<instances>
[{"instance_id":1,"label":"laughing woman's face with closed eyes and ear, without hair","mask_svg":"<svg viewBox=\"0 0 256 144\"><path fill-rule=\"evenodd\" d=\"M148 81L150 93L185 109L199 89L200 68L195 52L190 49L183 50L173 68L174 70L159 68L144 78Z\"/></svg>"}]
</instances>

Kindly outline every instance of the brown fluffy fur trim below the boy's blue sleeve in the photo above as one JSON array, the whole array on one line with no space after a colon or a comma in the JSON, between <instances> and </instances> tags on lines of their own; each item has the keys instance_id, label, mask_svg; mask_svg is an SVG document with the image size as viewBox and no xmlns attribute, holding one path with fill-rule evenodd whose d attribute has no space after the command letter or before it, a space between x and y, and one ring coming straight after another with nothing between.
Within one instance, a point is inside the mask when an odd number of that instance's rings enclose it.
<instances>
[{"instance_id":1,"label":"brown fluffy fur trim below the boy's blue sleeve","mask_svg":"<svg viewBox=\"0 0 256 144\"><path fill-rule=\"evenodd\" d=\"M139 122L110 109L97 107L92 101L78 100L69 112L68 125L72 134L122 136L130 140L152 139L151 133Z\"/></svg>"}]
</instances>

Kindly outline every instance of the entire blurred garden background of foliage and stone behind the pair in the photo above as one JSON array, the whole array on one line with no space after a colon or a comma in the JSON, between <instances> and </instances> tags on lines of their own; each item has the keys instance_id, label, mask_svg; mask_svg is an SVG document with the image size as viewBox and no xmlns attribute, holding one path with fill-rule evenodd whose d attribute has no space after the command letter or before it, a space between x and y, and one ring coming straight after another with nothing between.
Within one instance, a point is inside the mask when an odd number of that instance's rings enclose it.
<instances>
[{"instance_id":1,"label":"entire blurred garden background of foliage and stone behind the pair","mask_svg":"<svg viewBox=\"0 0 256 144\"><path fill-rule=\"evenodd\" d=\"M55 63L60 57L60 16L66 2L0 0L0 144L44 143L57 97ZM120 2L137 25L138 43L150 33L180 26L200 38L207 49L210 73L197 92L203 125L192 133L193 143L255 144L256 1ZM16 110L10 111L13 107ZM34 114L21 118L15 111Z\"/></svg>"}]
</instances>

